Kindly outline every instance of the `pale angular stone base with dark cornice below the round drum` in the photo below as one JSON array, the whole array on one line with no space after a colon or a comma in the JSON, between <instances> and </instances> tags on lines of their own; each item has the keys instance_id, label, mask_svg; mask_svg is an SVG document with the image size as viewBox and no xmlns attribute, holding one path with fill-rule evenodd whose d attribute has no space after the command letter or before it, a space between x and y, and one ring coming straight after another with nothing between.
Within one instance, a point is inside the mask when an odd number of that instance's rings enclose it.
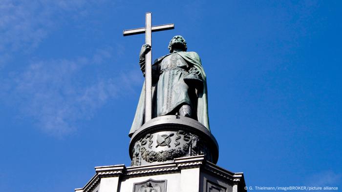
<instances>
[{"instance_id":1,"label":"pale angular stone base with dark cornice below the round drum","mask_svg":"<svg viewBox=\"0 0 342 192\"><path fill-rule=\"evenodd\" d=\"M232 173L204 155L173 162L95 167L96 174L75 192L246 192L243 173Z\"/></svg>"}]
</instances>

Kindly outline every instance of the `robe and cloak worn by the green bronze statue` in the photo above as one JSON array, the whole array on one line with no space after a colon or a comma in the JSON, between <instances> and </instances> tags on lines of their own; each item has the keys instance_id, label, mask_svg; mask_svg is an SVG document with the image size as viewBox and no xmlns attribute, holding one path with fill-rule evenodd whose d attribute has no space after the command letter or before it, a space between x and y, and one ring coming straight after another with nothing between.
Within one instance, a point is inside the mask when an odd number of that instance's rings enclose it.
<instances>
[{"instance_id":1,"label":"robe and cloak worn by the green bronze statue","mask_svg":"<svg viewBox=\"0 0 342 192\"><path fill-rule=\"evenodd\" d=\"M164 58L176 58L174 55L178 54L178 58L184 60L185 66L178 64L177 66L170 66L163 62ZM156 59L152 65L152 118L162 115L168 115L178 105L184 103L195 107L192 112L195 112L195 118L198 122L203 124L209 131L208 118L208 92L206 74L203 70L201 59L195 52L175 52ZM171 58L171 60L172 60ZM145 61L144 61L145 62ZM181 66L179 66L181 65ZM192 102L188 95L188 85L185 84L183 78L189 74L185 68L194 67L203 81L203 86L195 89L195 102ZM144 73L144 66L142 71ZM183 69L184 68L184 69ZM140 94L138 106L135 112L134 120L129 131L129 137L134 134L145 123L145 82Z\"/></svg>"}]
</instances>

